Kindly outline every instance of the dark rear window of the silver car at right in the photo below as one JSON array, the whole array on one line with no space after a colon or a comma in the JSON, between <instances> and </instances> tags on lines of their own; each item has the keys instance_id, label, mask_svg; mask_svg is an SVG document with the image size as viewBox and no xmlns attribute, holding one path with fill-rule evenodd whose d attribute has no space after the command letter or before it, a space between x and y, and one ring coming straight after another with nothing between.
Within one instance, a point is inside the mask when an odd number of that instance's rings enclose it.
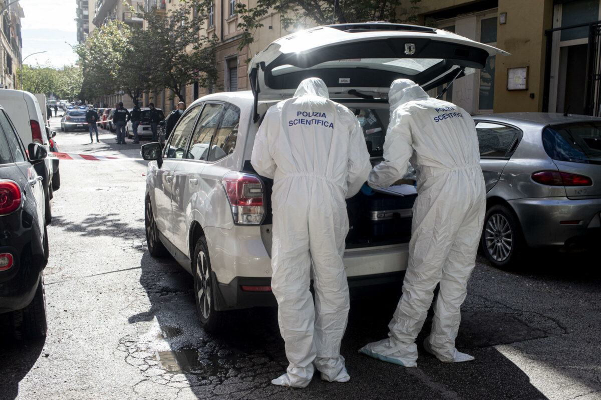
<instances>
[{"instance_id":1,"label":"dark rear window of the silver car at right","mask_svg":"<svg viewBox=\"0 0 601 400\"><path fill-rule=\"evenodd\" d=\"M601 164L601 123L577 122L546 128L543 145L553 160Z\"/></svg>"}]
</instances>

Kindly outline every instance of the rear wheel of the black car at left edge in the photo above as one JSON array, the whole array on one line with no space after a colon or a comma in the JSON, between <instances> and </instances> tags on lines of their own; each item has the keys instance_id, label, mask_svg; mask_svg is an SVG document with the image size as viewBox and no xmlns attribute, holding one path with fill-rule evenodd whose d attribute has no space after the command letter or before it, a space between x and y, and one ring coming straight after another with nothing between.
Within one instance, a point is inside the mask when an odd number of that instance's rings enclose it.
<instances>
[{"instance_id":1,"label":"rear wheel of the black car at left edge","mask_svg":"<svg viewBox=\"0 0 601 400\"><path fill-rule=\"evenodd\" d=\"M40 275L34 299L28 306L11 313L13 332L17 340L38 339L46 336L46 291L44 276Z\"/></svg>"}]
</instances>

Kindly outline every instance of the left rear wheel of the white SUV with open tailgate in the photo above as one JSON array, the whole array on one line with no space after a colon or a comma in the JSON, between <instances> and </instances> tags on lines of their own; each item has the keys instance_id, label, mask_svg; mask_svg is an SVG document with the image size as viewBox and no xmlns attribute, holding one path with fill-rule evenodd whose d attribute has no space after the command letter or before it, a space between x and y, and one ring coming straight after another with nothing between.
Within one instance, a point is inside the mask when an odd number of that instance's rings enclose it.
<instances>
[{"instance_id":1,"label":"left rear wheel of the white SUV with open tailgate","mask_svg":"<svg viewBox=\"0 0 601 400\"><path fill-rule=\"evenodd\" d=\"M201 236L194 246L194 294L201 325L207 332L220 332L228 326L228 312L216 311L207 239Z\"/></svg>"}]
</instances>

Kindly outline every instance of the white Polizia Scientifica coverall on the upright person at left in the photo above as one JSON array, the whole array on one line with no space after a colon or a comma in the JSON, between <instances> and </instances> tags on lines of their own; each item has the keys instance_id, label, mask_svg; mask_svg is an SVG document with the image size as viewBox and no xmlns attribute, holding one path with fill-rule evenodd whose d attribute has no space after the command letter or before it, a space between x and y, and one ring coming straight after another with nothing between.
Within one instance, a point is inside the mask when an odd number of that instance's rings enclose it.
<instances>
[{"instance_id":1,"label":"white Polizia Scientifica coverall on the upright person at left","mask_svg":"<svg viewBox=\"0 0 601 400\"><path fill-rule=\"evenodd\" d=\"M329 100L318 78L303 80L293 98L270 107L257 132L251 163L273 178L271 285L290 362L273 384L306 387L313 363L323 380L350 379L340 355L349 313L345 199L367 180L369 157L355 115Z\"/></svg>"}]
</instances>

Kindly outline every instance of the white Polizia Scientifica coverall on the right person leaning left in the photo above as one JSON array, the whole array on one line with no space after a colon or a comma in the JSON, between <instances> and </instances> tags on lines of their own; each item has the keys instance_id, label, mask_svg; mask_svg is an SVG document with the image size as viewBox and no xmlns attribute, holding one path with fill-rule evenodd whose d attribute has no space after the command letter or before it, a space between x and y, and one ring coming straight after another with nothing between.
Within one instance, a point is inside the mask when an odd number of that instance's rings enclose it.
<instances>
[{"instance_id":1,"label":"white Polizia Scientifica coverall on the right person leaning left","mask_svg":"<svg viewBox=\"0 0 601 400\"><path fill-rule=\"evenodd\" d=\"M474 120L452 103L430 98L408 79L392 82L384 159L368 178L373 188L401 178L410 160L418 175L409 265L388 338L361 348L368 356L417 366L415 338L440 283L432 332L424 347L442 362L473 360L455 338L482 233L486 191Z\"/></svg>"}]
</instances>

